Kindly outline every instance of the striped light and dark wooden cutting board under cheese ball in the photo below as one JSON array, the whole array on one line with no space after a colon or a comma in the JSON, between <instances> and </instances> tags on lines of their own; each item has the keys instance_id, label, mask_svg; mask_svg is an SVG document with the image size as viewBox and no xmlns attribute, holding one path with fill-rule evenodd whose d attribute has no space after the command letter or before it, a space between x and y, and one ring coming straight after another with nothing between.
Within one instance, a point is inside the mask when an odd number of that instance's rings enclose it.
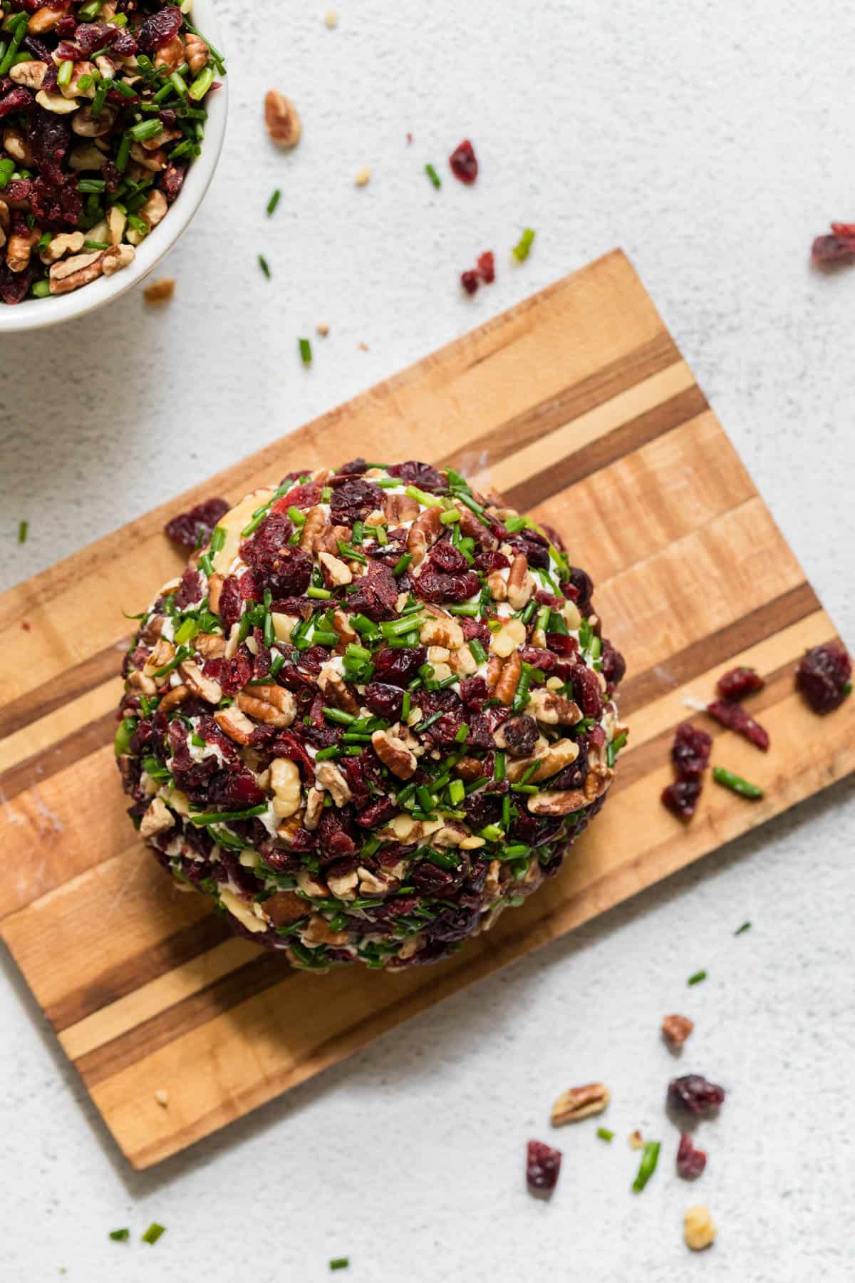
<instances>
[{"instance_id":1,"label":"striped light and dark wooden cutting board under cheese ball","mask_svg":"<svg viewBox=\"0 0 855 1283\"><path fill-rule=\"evenodd\" d=\"M135 840L112 744L120 608L178 570L168 516L355 454L451 463L563 530L627 656L632 735L605 811L524 908L437 967L317 978L229 937ZM820 721L793 689L802 650L833 636L632 267L609 254L0 598L0 933L146 1168L855 769L855 699ZM710 698L735 662L767 676L751 707L772 751L722 731L713 761L765 798L709 783L683 826L659 803L672 731L683 698Z\"/></svg>"}]
</instances>

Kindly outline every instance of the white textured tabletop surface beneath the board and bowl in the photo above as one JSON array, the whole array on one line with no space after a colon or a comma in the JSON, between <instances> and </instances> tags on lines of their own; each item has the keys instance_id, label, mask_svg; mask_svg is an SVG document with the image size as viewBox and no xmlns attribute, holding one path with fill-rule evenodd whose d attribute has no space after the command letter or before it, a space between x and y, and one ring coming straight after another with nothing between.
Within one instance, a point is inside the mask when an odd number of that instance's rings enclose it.
<instances>
[{"instance_id":1,"label":"white textured tabletop surface beneath the board and bowl","mask_svg":"<svg viewBox=\"0 0 855 1283\"><path fill-rule=\"evenodd\" d=\"M326 8L222 0L227 153L168 260L174 304L149 312L137 294L46 340L4 340L3 579L620 244L855 639L855 275L817 278L806 262L829 218L854 217L845 8L340 0L333 32ZM305 126L286 157L259 126L274 63ZM444 160L465 135L482 162L474 190ZM358 191L363 164L373 177ZM514 271L506 250L526 223L537 245ZM456 275L487 246L499 280L465 300ZM310 372L296 350L306 334ZM4 958L0 1274L281 1283L329 1278L327 1260L350 1255L333 1277L354 1283L846 1283L854 819L855 789L840 785L145 1175L117 1156ZM746 917L754 930L733 939ZM710 979L686 989L700 966ZM674 1062L656 1030L672 1010L697 1021L685 1069L731 1089L701 1126L710 1162L695 1187L673 1174L661 1110ZM558 1192L535 1202L524 1142L549 1139L552 1097L592 1078L613 1088L618 1138L560 1133ZM636 1126L665 1142L640 1197ZM690 1259L682 1212L697 1201L720 1236ZM153 1219L168 1225L154 1248L106 1241L124 1224L137 1239Z\"/></svg>"}]
</instances>

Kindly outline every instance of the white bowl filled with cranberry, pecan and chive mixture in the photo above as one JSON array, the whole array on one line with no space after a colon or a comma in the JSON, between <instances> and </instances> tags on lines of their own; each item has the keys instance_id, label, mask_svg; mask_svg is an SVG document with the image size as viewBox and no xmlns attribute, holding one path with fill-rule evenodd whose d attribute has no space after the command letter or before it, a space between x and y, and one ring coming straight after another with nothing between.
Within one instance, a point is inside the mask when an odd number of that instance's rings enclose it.
<instances>
[{"instance_id":1,"label":"white bowl filled with cranberry, pecan and chive mixture","mask_svg":"<svg viewBox=\"0 0 855 1283\"><path fill-rule=\"evenodd\" d=\"M4 0L0 330L91 310L174 244L222 146L215 38L210 0Z\"/></svg>"}]
</instances>

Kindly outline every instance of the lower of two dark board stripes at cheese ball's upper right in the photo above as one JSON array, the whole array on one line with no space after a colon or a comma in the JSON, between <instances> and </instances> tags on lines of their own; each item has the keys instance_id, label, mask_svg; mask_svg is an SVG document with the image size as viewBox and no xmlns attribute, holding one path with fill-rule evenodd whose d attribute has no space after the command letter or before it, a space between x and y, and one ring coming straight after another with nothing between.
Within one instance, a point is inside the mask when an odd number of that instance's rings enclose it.
<instances>
[{"instance_id":1,"label":"lower of two dark board stripes at cheese ball's upper right","mask_svg":"<svg viewBox=\"0 0 855 1283\"><path fill-rule=\"evenodd\" d=\"M551 495L615 463L624 454L632 454L650 441L665 436L667 432L682 427L706 409L709 405L700 387L687 387L686 391L678 393L661 405L654 405L652 409L629 420L628 423L622 423L596 441L578 450L570 450L559 463L550 463L542 472L510 486L504 491L504 498L511 507L528 512Z\"/></svg>"}]
</instances>

